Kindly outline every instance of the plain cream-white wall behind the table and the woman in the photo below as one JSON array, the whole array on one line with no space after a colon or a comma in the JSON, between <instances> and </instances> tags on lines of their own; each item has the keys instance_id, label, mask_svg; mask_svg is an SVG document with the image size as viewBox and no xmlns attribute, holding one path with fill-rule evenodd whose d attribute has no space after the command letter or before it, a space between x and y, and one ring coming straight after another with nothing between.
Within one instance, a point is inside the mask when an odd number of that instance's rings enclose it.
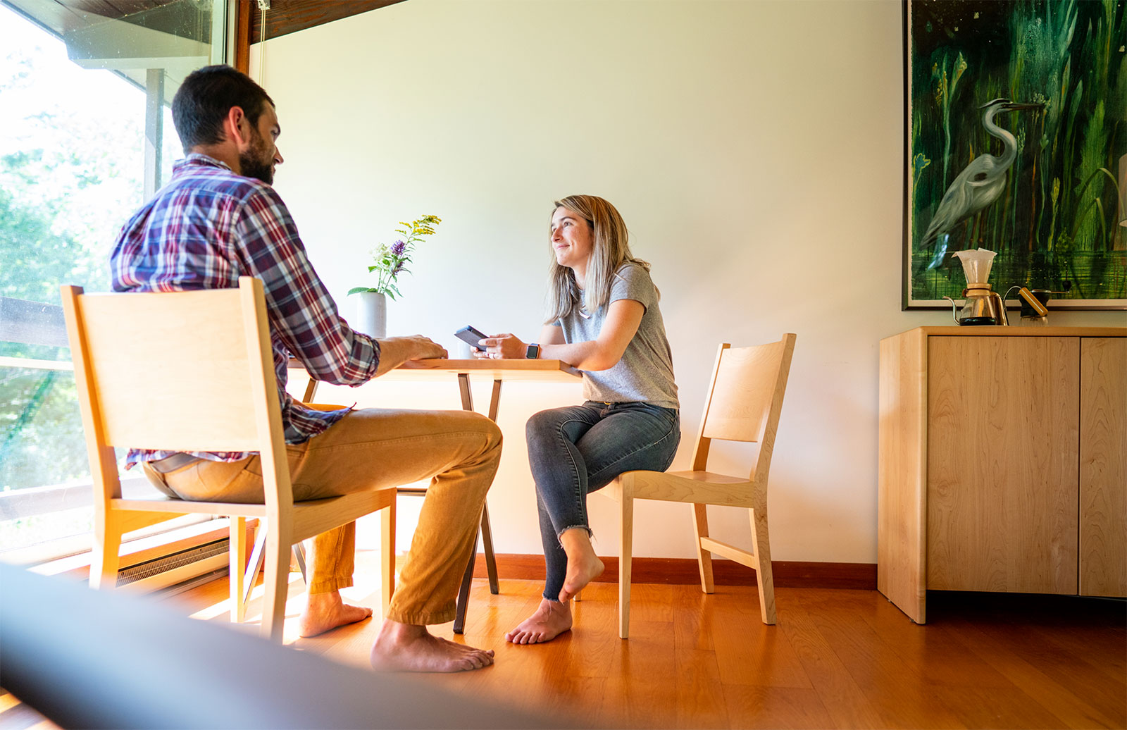
<instances>
[{"instance_id":1,"label":"plain cream-white wall behind the table and the woman","mask_svg":"<svg viewBox=\"0 0 1127 730\"><path fill-rule=\"evenodd\" d=\"M452 350L468 323L532 339L552 201L606 197L663 293L683 407L674 468L687 468L717 344L797 332L771 470L773 558L876 562L878 341L950 322L899 306L898 2L410 0L251 59L283 127L277 189L346 318L371 248L434 213L444 222L391 305L391 333ZM496 543L536 553L523 422L579 391L505 395ZM482 409L487 391L476 397ZM458 403L453 383L332 398ZM720 451L710 468L745 471L739 455ZM635 554L691 557L686 510L640 506ZM616 554L613 504L592 499L591 511L597 549ZM710 509L713 534L749 546L745 515Z\"/></svg>"}]
</instances>

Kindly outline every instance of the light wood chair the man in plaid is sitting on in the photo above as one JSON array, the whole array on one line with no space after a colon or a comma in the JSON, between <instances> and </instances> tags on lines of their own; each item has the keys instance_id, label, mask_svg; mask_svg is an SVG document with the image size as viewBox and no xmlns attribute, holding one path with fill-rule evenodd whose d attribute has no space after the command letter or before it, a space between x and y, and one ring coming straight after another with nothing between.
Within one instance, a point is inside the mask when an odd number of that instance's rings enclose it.
<instances>
[{"instance_id":1,"label":"light wood chair the man in plaid is sitting on","mask_svg":"<svg viewBox=\"0 0 1127 730\"><path fill-rule=\"evenodd\" d=\"M381 593L394 569L396 490L294 502L261 282L238 288L83 294L62 287L66 333L94 475L90 585L117 580L122 534L185 514L231 518L231 614L246 614L246 519L266 520L261 632L282 640L290 549L299 541L383 510ZM206 388L202 388L205 383ZM114 447L179 452L251 451L261 456L265 504L123 499Z\"/></svg>"}]
</instances>

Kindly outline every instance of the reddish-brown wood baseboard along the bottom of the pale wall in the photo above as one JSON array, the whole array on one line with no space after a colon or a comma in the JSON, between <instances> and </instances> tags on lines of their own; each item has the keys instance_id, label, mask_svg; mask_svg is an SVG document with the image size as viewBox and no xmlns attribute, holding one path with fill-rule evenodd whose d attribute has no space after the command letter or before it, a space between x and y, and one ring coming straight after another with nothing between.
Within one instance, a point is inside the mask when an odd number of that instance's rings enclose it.
<instances>
[{"instance_id":1,"label":"reddish-brown wood baseboard along the bottom of the pale wall","mask_svg":"<svg viewBox=\"0 0 1127 730\"><path fill-rule=\"evenodd\" d=\"M619 581L619 559L602 558L606 570L596 582ZM877 589L876 563L831 563L774 560L771 562L774 585L779 588L850 588ZM543 580L543 555L516 553L497 554L497 575L511 580ZM693 558L635 558L631 563L632 582L664 585L695 585L700 571ZM712 560L712 575L718 586L754 586L755 571L730 560ZM485 554L478 553L473 577L486 577Z\"/></svg>"}]
</instances>

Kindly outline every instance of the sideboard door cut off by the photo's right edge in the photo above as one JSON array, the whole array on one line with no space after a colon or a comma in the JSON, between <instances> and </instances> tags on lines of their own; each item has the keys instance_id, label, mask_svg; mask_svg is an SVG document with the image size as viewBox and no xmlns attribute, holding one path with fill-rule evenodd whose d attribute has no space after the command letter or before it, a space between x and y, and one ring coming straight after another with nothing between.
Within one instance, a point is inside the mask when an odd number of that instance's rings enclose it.
<instances>
[{"instance_id":1,"label":"sideboard door cut off by the photo's right edge","mask_svg":"<svg viewBox=\"0 0 1127 730\"><path fill-rule=\"evenodd\" d=\"M1127 338L1080 346L1080 593L1127 596Z\"/></svg>"}]
</instances>

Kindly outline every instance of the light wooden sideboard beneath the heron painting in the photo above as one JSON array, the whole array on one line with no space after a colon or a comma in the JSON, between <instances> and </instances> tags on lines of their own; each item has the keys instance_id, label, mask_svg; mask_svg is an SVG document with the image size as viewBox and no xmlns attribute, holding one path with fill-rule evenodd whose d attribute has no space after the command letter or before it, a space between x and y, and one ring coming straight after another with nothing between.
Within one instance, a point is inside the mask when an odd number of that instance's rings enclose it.
<instances>
[{"instance_id":1,"label":"light wooden sideboard beneath the heron painting","mask_svg":"<svg viewBox=\"0 0 1127 730\"><path fill-rule=\"evenodd\" d=\"M880 341L877 588L1127 596L1127 327Z\"/></svg>"}]
</instances>

